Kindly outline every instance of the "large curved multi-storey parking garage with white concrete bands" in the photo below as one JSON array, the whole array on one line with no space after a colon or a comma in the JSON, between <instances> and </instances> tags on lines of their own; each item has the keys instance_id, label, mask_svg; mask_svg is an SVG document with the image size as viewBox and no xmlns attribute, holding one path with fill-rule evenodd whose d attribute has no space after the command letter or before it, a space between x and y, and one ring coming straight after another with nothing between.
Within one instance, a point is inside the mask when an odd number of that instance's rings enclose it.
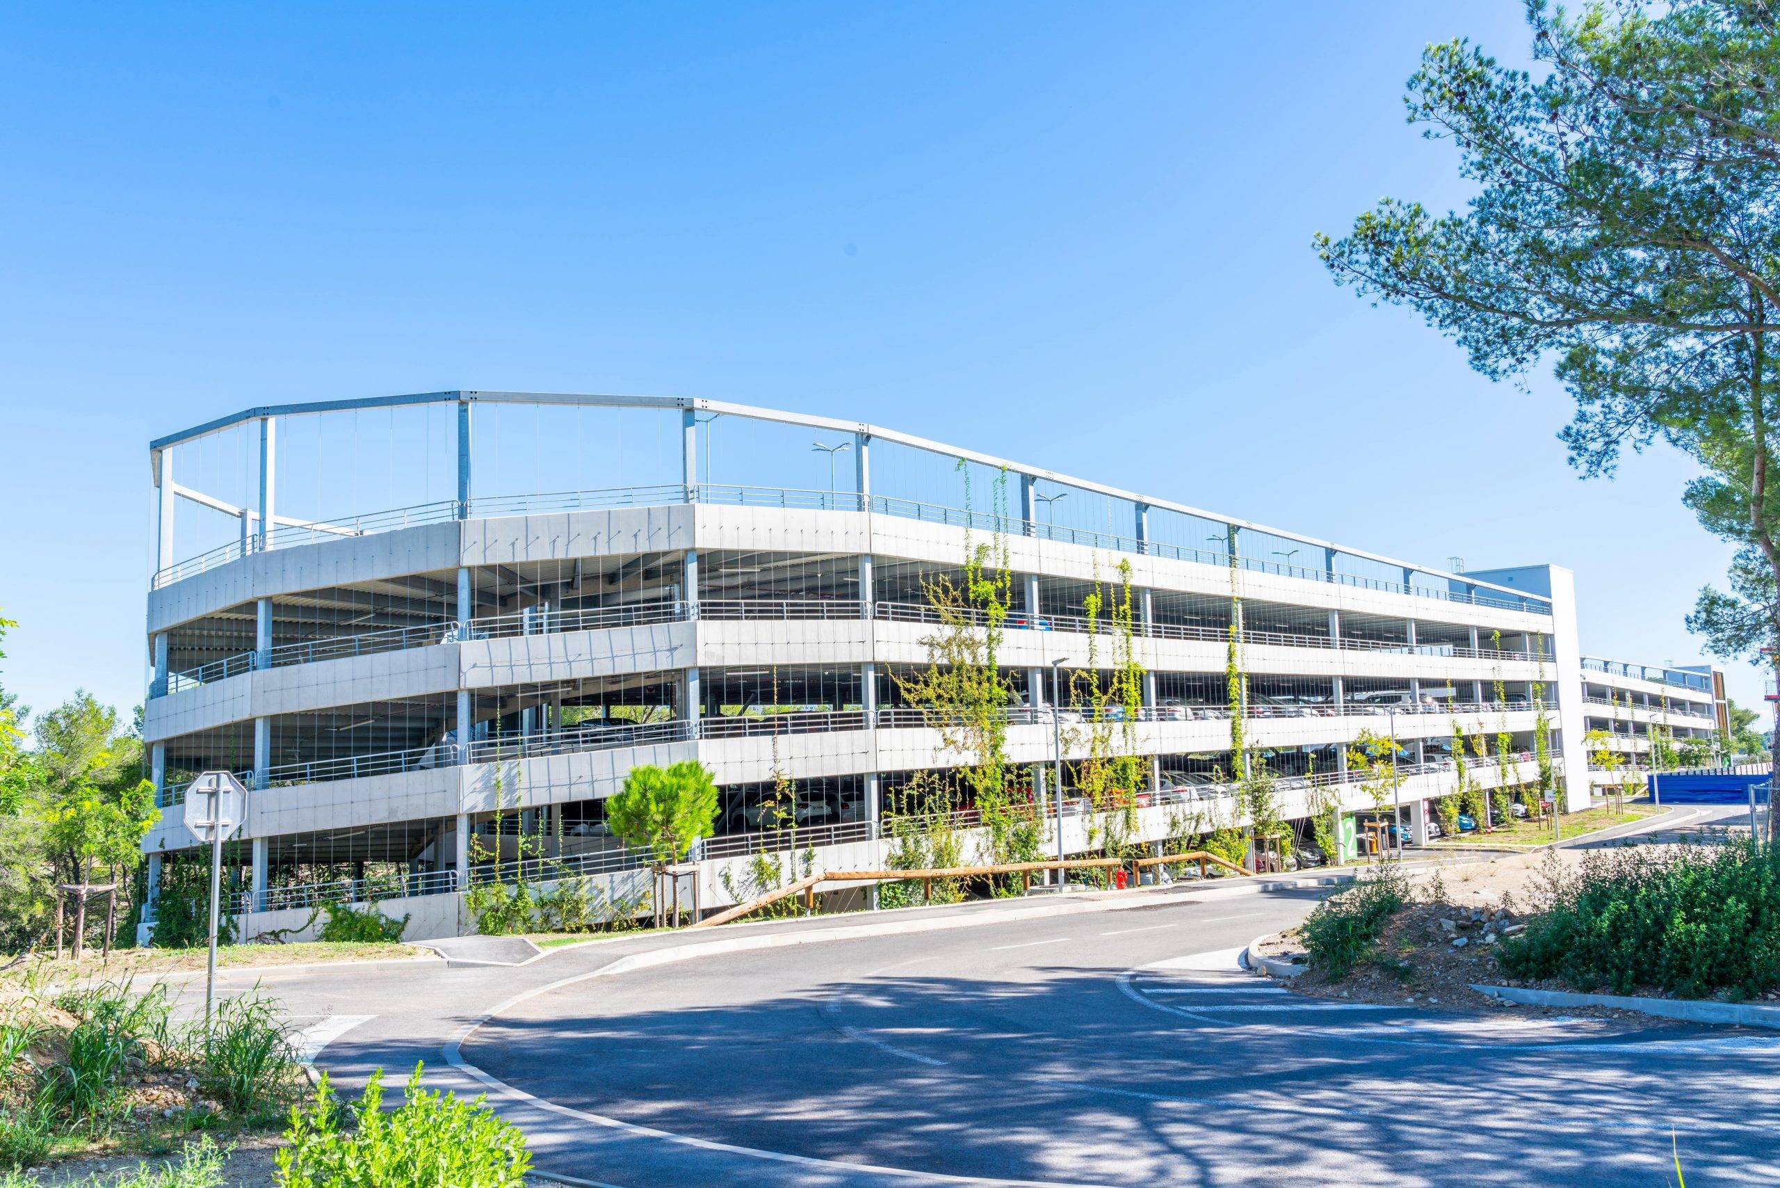
<instances>
[{"instance_id":1,"label":"large curved multi-storey parking garage with white concrete bands","mask_svg":"<svg viewBox=\"0 0 1780 1188\"><path fill-rule=\"evenodd\" d=\"M1057 814L1045 794L1054 746L1070 785L1093 732L1054 730L1050 707L1116 663L1086 604L1121 563L1143 670L1121 734L1148 769L1136 841L1177 835L1182 805L1241 823L1232 714L1289 821L1314 791L1374 803L1347 764L1362 730L1396 739L1392 798L1417 832L1451 791L1454 734L1509 741L1472 768L1524 784L1543 732L1568 798L1588 796L1556 566L1429 570L878 426L692 399L256 408L151 460L144 732L166 810L150 878L192 844L183 785L239 773L253 796L226 864L249 935L342 896L397 896L411 935L440 935L479 878L621 880L641 858L602 801L644 762L698 759L723 791L694 853L703 905L773 846L881 862L897 789L968 762L906 679L933 659L934 582L961 581L986 540L1013 595L1006 752L1047 851L1052 830L1095 844L1091 807ZM767 830L785 787L796 828ZM516 834L548 862L525 867Z\"/></svg>"}]
</instances>

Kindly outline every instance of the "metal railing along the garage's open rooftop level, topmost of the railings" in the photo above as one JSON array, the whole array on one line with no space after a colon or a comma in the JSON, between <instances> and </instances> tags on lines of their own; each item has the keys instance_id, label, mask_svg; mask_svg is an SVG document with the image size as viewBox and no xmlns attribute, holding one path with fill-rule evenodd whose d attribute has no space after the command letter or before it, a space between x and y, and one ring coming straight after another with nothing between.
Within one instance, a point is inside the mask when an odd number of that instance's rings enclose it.
<instances>
[{"instance_id":1,"label":"metal railing along the garage's open rooftop level, topmost of the railings","mask_svg":"<svg viewBox=\"0 0 1780 1188\"><path fill-rule=\"evenodd\" d=\"M438 500L429 504L415 504L411 508L393 508L388 511L376 511L360 517L338 517L328 522L319 522L315 525L279 525L274 533L269 534L269 540L265 536L249 534L244 540L219 545L217 549L198 554L196 557L187 557L185 561L158 570L151 577L150 586L153 590L158 590L185 577L203 574L205 570L215 568L217 565L226 565L228 561L235 561L246 554L263 550L267 547L308 543L313 540L324 540L333 536L361 536L367 533L392 531L418 524L434 524L440 520L457 518L459 511L465 515L465 518L482 518L482 517L502 517L502 515L527 515L536 511L573 511L582 508L643 508L643 506L669 506L669 504L717 504L732 508L780 508L780 509L815 509L815 511L872 511L878 515L892 515L927 524L974 527L981 531L1006 533L1009 536L1036 536L1041 540L1086 545L1091 549L1136 552L1157 557L1171 557L1177 561L1193 561L1198 565L1216 565L1223 568L1232 568L1232 557L1225 552L1207 552L1202 549L1168 545L1155 540L1137 540L1136 536L1121 536L1116 533L1100 533L1100 531L1075 529L1056 524L1041 524L1036 520L999 517L981 511L965 511L961 508L947 508L943 504L899 499L894 495L867 497L860 495L858 492L840 492L840 490L821 492L821 490L797 490L797 488L778 488L778 486L735 486L723 483L682 486L676 483L669 483L669 484L634 486L634 488L603 488L591 492L497 495L497 497L472 499L468 506L459 506L456 500ZM1298 565L1280 565L1276 561L1262 561L1258 557L1237 557L1234 568L1255 574L1296 577L1301 581L1351 586L1356 590L1403 593L1417 598L1438 598L1444 602L1461 602L1461 604L1495 607L1506 611L1522 611L1529 614L1550 614L1549 602L1541 602L1533 597L1509 595L1506 591L1486 595L1486 593L1470 593L1465 590L1451 590L1451 588L1442 590L1435 586L1417 586L1413 582L1406 584L1376 577L1360 577L1356 574L1342 574L1333 568L1323 570L1323 568L1307 568Z\"/></svg>"}]
</instances>

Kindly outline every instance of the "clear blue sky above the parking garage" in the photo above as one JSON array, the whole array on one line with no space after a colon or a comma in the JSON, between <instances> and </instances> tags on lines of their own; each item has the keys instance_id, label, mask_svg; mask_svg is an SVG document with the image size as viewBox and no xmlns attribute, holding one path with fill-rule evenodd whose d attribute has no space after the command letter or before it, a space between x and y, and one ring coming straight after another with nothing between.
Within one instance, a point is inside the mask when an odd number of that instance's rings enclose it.
<instances>
[{"instance_id":1,"label":"clear blue sky above the parking garage","mask_svg":"<svg viewBox=\"0 0 1780 1188\"><path fill-rule=\"evenodd\" d=\"M1403 123L1520 5L12 5L4 682L141 698L151 436L436 388L869 419L1444 566L1577 572L1687 663L1728 550L1657 452L1582 483L1310 249L1463 199ZM1732 691L1759 696L1753 670Z\"/></svg>"}]
</instances>

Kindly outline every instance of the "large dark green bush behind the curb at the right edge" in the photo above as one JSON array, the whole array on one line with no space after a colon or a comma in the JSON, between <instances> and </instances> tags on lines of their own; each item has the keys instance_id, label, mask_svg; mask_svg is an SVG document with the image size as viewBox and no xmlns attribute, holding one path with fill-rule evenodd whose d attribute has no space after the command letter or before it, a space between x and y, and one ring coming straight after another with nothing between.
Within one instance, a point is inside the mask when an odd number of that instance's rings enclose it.
<instances>
[{"instance_id":1,"label":"large dark green bush behind the curb at the right edge","mask_svg":"<svg viewBox=\"0 0 1780 1188\"><path fill-rule=\"evenodd\" d=\"M1497 960L1515 978L1584 992L1753 997L1780 989L1780 851L1741 842L1590 855Z\"/></svg>"}]
</instances>

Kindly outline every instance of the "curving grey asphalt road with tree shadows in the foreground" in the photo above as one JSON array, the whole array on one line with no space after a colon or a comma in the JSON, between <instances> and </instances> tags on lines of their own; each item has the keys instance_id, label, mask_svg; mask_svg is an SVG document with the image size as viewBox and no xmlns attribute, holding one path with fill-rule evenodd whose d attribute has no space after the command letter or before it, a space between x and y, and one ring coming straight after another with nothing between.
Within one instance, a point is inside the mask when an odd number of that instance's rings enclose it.
<instances>
[{"instance_id":1,"label":"curving grey asphalt road with tree shadows in the foreground","mask_svg":"<svg viewBox=\"0 0 1780 1188\"><path fill-rule=\"evenodd\" d=\"M345 1083L425 1060L431 1085L490 1092L541 1170L627 1188L1663 1184L1671 1131L1689 1184L1780 1183L1780 1033L1319 1006L1235 956L1323 892L1234 891L292 971L263 990Z\"/></svg>"}]
</instances>

